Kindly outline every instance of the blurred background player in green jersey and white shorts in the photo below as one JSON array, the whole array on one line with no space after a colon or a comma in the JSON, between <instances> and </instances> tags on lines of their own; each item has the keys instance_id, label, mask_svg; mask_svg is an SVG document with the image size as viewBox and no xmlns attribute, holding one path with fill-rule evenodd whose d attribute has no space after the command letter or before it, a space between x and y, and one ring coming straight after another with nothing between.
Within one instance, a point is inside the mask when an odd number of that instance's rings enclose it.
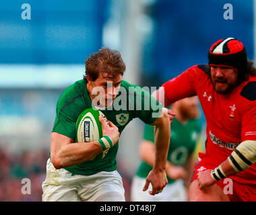
<instances>
[{"instance_id":1,"label":"blurred background player in green jersey and white shorts","mask_svg":"<svg viewBox=\"0 0 256 215\"><path fill-rule=\"evenodd\" d=\"M154 126L146 125L139 148L141 164L131 184L131 201L134 202L185 202L193 166L194 150L201 126L197 97L187 97L172 104L176 114L170 126L171 138L166 162L168 184L156 196L142 191L148 173L154 165Z\"/></svg>"}]
</instances>

